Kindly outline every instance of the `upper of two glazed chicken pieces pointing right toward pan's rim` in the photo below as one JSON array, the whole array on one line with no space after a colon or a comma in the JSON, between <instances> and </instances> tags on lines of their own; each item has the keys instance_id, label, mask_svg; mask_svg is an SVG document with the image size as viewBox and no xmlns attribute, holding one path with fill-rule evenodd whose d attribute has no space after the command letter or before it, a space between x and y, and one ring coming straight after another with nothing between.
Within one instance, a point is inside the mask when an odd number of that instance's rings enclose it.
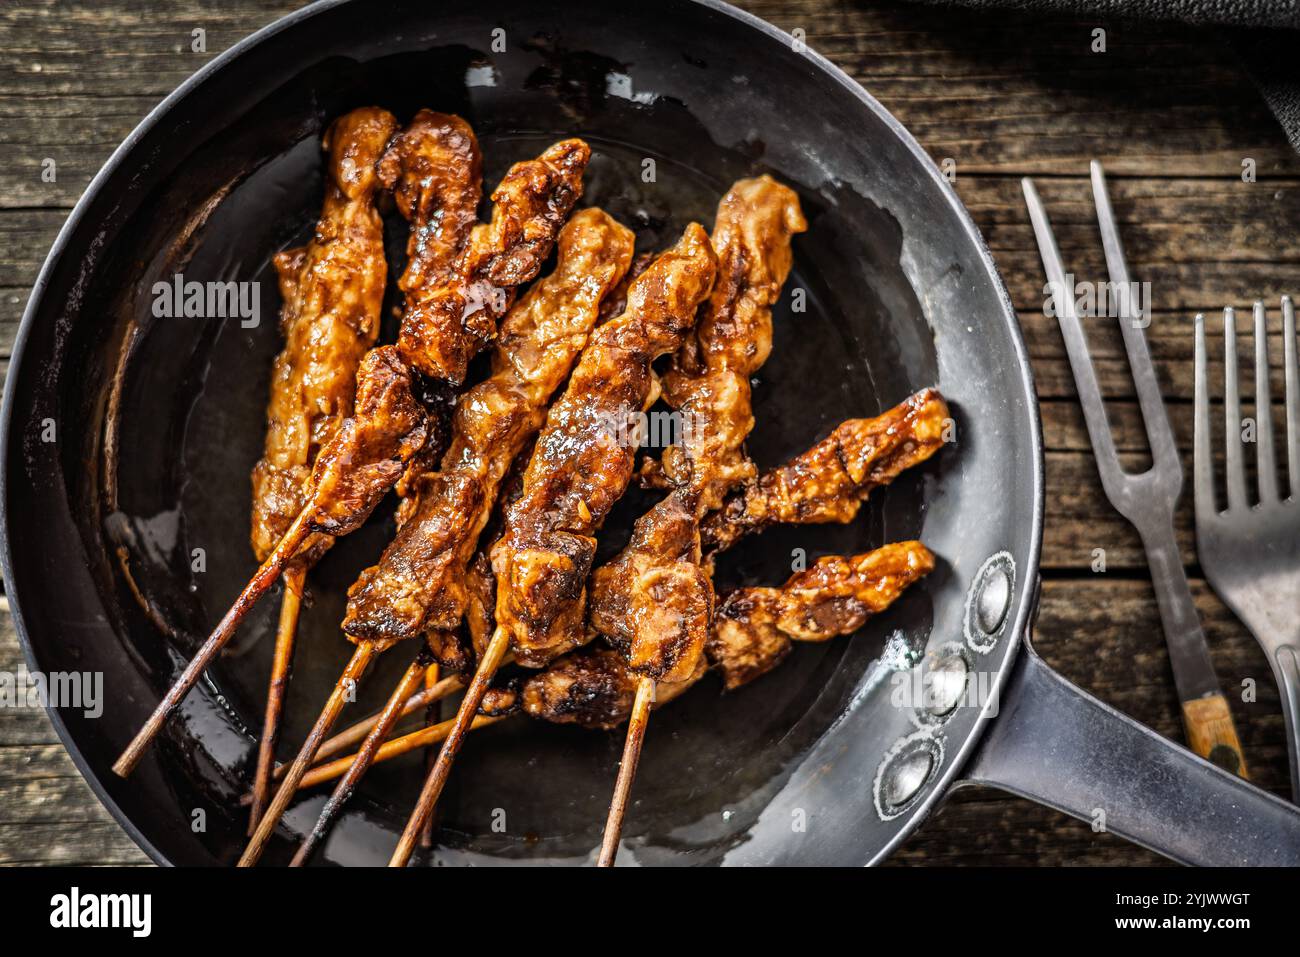
<instances>
[{"instance_id":1,"label":"upper of two glazed chicken pieces pointing right toward pan's rim","mask_svg":"<svg viewBox=\"0 0 1300 957\"><path fill-rule=\"evenodd\" d=\"M944 443L948 404L923 389L875 419L850 419L790 462L738 490L703 523L711 554L776 524L852 521L872 489L888 485Z\"/></svg>"}]
</instances>

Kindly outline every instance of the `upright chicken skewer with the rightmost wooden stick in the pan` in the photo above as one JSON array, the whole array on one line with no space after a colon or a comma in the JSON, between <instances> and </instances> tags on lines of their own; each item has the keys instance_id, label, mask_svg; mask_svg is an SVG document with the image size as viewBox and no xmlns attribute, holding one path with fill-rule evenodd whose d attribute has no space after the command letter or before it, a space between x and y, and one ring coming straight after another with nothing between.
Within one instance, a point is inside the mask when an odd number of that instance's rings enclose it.
<instances>
[{"instance_id":1,"label":"upright chicken skewer with the rightmost wooden stick in the pan","mask_svg":"<svg viewBox=\"0 0 1300 957\"><path fill-rule=\"evenodd\" d=\"M640 676L601 866L611 866L618 853L655 685L688 680L703 661L714 588L702 567L699 520L757 473L745 454L754 428L750 377L772 350L772 304L790 272L790 239L805 229L798 196L771 177L741 179L723 196L712 233L718 282L663 377L664 400L681 430L660 456L672 490L637 520L627 549L592 580L592 624Z\"/></svg>"}]
</instances>

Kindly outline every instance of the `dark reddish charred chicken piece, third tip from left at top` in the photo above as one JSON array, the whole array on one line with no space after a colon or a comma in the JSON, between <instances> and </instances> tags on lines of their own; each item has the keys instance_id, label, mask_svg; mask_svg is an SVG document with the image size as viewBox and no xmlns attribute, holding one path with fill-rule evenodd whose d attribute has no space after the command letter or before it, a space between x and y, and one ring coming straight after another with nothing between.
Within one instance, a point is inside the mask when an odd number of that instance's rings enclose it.
<instances>
[{"instance_id":1,"label":"dark reddish charred chicken piece, third tip from left at top","mask_svg":"<svg viewBox=\"0 0 1300 957\"><path fill-rule=\"evenodd\" d=\"M493 192L490 222L474 226L448 274L408 303L398 348L415 369L459 385L469 360L497 334L515 289L537 276L582 195L592 151L566 139L516 163Z\"/></svg>"}]
</instances>

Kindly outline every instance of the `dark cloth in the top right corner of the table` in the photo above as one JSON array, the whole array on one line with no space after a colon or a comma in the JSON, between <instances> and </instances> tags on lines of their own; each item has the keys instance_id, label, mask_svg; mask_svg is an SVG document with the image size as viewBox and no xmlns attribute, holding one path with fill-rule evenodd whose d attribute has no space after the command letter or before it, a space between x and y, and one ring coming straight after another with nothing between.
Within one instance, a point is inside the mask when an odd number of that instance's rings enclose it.
<instances>
[{"instance_id":1,"label":"dark cloth in the top right corner of the table","mask_svg":"<svg viewBox=\"0 0 1300 957\"><path fill-rule=\"evenodd\" d=\"M1178 20L1231 27L1228 43L1300 152L1300 0L939 0L980 9Z\"/></svg>"}]
</instances>

